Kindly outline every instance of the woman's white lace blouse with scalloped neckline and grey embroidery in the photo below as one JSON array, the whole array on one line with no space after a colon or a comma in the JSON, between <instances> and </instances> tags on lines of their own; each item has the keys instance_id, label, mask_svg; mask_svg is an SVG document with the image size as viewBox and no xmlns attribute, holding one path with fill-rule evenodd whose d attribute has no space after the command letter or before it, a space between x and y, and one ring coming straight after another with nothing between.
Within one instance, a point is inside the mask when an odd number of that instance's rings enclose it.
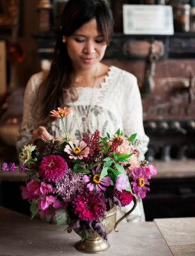
<instances>
[{"instance_id":1,"label":"woman's white lace blouse with scalloped neckline and grey embroidery","mask_svg":"<svg viewBox=\"0 0 195 256\"><path fill-rule=\"evenodd\" d=\"M18 150L31 140L32 131L42 125L42 120L39 120L38 117L35 118L32 110L33 101L38 97L38 88L43 77L43 72L40 72L33 75L27 83L24 95L23 120L20 134L16 141ZM66 116L66 131L78 139L81 139L80 134L81 132L86 132L86 129L90 134L93 134L98 129L102 136L106 136L106 132L112 135L119 128L127 137L137 133L137 139L141 141L141 145L137 147L139 159L144 159L149 139L143 129L143 109L136 77L120 68L111 66L104 83L100 85L100 88L94 89L89 87L77 88L79 97L74 102L76 111L73 109L70 115ZM69 92L67 93L66 102L68 107L72 107ZM63 108L64 106L59 107ZM42 106L37 109L37 113L41 109ZM89 109L90 114L88 114ZM63 125L59 118L48 124L46 128L54 138L60 138L61 134L64 133ZM83 131L84 129L85 131ZM136 215L135 218L134 215ZM129 218L131 221L132 219L135 221L144 220L142 204L136 207L136 210L130 214Z\"/></svg>"}]
</instances>

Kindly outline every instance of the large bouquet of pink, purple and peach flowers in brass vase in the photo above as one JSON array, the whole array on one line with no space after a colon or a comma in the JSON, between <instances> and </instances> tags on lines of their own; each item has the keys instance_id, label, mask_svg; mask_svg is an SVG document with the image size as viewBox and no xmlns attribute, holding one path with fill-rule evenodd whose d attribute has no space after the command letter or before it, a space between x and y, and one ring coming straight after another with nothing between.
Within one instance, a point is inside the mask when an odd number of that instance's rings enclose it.
<instances>
[{"instance_id":1,"label":"large bouquet of pink, purple and peach flowers in brass vase","mask_svg":"<svg viewBox=\"0 0 195 256\"><path fill-rule=\"evenodd\" d=\"M61 118L71 108L58 108L51 116ZM129 205L133 196L144 198L148 179L157 173L155 166L139 161L136 134L129 138L116 131L111 136L100 136L97 130L91 138L84 134L81 141L44 141L22 148L19 172L27 173L26 186L21 186L22 198L28 199L32 217L38 212L56 216L58 225L67 230L77 228L82 239L88 237L90 228L107 239L102 220L105 211L114 204ZM13 172L14 163L3 163L1 170Z\"/></svg>"}]
</instances>

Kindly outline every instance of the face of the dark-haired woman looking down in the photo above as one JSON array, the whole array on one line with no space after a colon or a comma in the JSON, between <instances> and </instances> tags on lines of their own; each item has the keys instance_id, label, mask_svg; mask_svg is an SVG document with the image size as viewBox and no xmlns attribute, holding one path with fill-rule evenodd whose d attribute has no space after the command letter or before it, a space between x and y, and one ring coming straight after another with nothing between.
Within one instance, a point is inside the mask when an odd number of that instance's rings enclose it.
<instances>
[{"instance_id":1,"label":"face of the dark-haired woman looking down","mask_svg":"<svg viewBox=\"0 0 195 256\"><path fill-rule=\"evenodd\" d=\"M75 70L96 67L107 47L102 33L97 29L96 19L82 25L71 36L63 36L63 40L66 41L67 52Z\"/></svg>"}]
</instances>

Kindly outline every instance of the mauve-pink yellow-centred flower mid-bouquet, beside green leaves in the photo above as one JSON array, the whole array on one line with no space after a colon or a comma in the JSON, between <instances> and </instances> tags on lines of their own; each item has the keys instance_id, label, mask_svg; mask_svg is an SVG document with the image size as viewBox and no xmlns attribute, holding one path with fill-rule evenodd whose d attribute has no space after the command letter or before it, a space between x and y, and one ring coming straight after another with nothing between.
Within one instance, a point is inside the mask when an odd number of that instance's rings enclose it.
<instances>
[{"instance_id":1,"label":"mauve-pink yellow-centred flower mid-bouquet, beside green leaves","mask_svg":"<svg viewBox=\"0 0 195 256\"><path fill-rule=\"evenodd\" d=\"M91 168L91 171L93 173L93 175L84 175L84 181L86 183L88 183L87 188L92 191L93 187L95 185L95 188L97 189L97 191L102 190L106 190L105 186L109 186L110 182L111 182L111 177L109 176L105 176L104 178L102 178L100 180L100 174L98 174L98 171L100 170L101 165L99 164L96 168L96 170L94 168Z\"/></svg>"}]
</instances>

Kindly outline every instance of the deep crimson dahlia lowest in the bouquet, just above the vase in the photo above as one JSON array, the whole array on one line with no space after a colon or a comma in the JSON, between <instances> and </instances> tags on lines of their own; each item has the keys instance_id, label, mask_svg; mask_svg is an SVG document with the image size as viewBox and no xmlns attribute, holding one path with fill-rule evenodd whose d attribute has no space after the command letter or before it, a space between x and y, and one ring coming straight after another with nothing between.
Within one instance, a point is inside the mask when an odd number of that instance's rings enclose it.
<instances>
[{"instance_id":1,"label":"deep crimson dahlia lowest in the bouquet, just above the vase","mask_svg":"<svg viewBox=\"0 0 195 256\"><path fill-rule=\"evenodd\" d=\"M105 202L107 199L101 192L90 193L83 192L77 195L72 202L72 211L79 216L81 220L98 220L106 211Z\"/></svg>"}]
</instances>

